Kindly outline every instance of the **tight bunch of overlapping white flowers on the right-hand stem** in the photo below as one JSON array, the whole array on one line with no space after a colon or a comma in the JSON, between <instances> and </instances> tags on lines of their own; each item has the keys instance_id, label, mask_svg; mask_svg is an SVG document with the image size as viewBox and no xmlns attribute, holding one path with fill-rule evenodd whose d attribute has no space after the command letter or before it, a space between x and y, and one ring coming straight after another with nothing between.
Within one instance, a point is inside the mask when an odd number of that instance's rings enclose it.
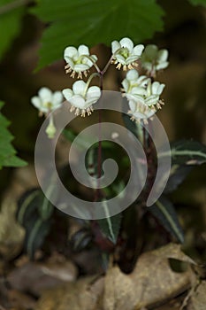
<instances>
[{"instance_id":1,"label":"tight bunch of overlapping white flowers on the right-hand stem","mask_svg":"<svg viewBox=\"0 0 206 310\"><path fill-rule=\"evenodd\" d=\"M151 82L151 79L145 75L139 76L135 70L131 70L126 74L126 79L122 82L125 96L129 101L132 120L144 120L151 118L156 109L161 109L164 105L160 100L160 95L163 92L164 84L158 81Z\"/></svg>"}]
</instances>

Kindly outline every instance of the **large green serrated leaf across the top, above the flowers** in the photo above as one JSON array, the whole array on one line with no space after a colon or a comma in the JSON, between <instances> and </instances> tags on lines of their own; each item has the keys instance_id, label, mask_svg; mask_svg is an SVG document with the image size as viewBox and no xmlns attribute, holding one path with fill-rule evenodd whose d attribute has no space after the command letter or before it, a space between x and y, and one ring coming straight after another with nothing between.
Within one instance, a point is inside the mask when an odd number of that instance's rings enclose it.
<instances>
[{"instance_id":1,"label":"large green serrated leaf across the top, above the flowers","mask_svg":"<svg viewBox=\"0 0 206 310\"><path fill-rule=\"evenodd\" d=\"M42 0L31 12L52 22L42 35L38 69L63 58L68 45L110 46L125 36L141 43L163 30L164 12L155 0Z\"/></svg>"}]
</instances>

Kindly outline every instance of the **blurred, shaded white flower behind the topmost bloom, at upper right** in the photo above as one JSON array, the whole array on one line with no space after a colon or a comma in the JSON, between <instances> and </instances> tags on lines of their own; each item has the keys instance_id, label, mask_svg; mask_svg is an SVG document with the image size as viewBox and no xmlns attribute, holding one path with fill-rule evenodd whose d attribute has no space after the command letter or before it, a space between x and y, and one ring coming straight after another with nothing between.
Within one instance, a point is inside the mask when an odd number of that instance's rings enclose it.
<instances>
[{"instance_id":1,"label":"blurred, shaded white flower behind the topmost bloom, at upper right","mask_svg":"<svg viewBox=\"0 0 206 310\"><path fill-rule=\"evenodd\" d=\"M164 69L169 65L167 58L168 50L158 50L156 45L149 44L141 55L141 66L155 75L156 71Z\"/></svg>"}]
</instances>

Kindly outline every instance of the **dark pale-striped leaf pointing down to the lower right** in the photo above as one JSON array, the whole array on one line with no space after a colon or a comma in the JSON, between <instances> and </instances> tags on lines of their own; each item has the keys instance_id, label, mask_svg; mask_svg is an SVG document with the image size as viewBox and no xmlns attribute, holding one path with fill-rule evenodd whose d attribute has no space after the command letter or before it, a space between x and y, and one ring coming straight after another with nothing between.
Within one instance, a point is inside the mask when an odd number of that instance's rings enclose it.
<instances>
[{"instance_id":1,"label":"dark pale-striped leaf pointing down to the lower right","mask_svg":"<svg viewBox=\"0 0 206 310\"><path fill-rule=\"evenodd\" d=\"M180 243L184 242L184 235L179 224L178 215L170 200L162 196L154 205L149 206L148 210L163 225L164 229L176 237Z\"/></svg>"}]
</instances>

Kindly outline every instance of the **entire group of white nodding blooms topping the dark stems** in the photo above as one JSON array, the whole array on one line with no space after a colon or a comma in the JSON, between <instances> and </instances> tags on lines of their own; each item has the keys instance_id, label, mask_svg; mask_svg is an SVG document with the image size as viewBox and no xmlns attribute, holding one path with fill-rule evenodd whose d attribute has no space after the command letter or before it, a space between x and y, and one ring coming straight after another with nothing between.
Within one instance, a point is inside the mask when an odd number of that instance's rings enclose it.
<instances>
[{"instance_id":1,"label":"entire group of white nodding blooms topping the dark stems","mask_svg":"<svg viewBox=\"0 0 206 310\"><path fill-rule=\"evenodd\" d=\"M126 78L122 81L123 96L127 98L129 111L132 120L147 122L164 102L160 95L164 90L164 84L154 81L156 72L168 66L168 51L158 50L156 45L138 44L134 46L131 39L125 37L111 43L111 59L100 70L97 65L97 57L91 55L88 46L80 45L78 48L68 46L64 51L65 73L72 78L77 74L78 79L88 76L88 71L95 66L95 73L91 74L88 81L75 81L72 89L63 89L62 92L52 93L50 89L42 88L39 90L38 97L32 97L32 104L40 111L40 114L49 114L62 104L63 96L71 104L70 111L75 115L85 117L94 110L94 105L101 97L103 90L103 74L110 64L116 65L119 69L127 71ZM141 68L145 74L139 75L135 69L141 62ZM95 76L100 79L99 86L89 84ZM50 116L50 124L46 130L49 137L53 137L56 132L53 116Z\"/></svg>"}]
</instances>

